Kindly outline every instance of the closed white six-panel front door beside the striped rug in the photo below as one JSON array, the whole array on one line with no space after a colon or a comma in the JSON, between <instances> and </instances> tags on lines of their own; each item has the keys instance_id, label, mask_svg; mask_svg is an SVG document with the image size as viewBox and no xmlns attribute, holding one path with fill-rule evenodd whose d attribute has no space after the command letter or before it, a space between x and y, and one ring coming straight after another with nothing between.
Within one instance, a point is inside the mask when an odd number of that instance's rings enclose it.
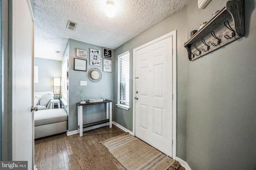
<instances>
[{"instance_id":1,"label":"closed white six-panel front door beside the striped rug","mask_svg":"<svg viewBox=\"0 0 256 170\"><path fill-rule=\"evenodd\" d=\"M172 156L172 36L134 49L135 135Z\"/></svg>"}]
</instances>

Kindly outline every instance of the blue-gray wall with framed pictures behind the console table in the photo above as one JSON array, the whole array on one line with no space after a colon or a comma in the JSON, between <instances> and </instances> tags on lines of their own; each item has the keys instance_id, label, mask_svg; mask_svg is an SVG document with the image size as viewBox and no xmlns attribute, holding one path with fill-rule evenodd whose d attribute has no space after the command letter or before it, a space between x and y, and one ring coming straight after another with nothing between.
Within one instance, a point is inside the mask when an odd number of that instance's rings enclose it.
<instances>
[{"instance_id":1,"label":"blue-gray wall with framed pictures behind the console table","mask_svg":"<svg viewBox=\"0 0 256 170\"><path fill-rule=\"evenodd\" d=\"M74 58L76 57L76 49L83 49L87 51L87 71L74 70ZM91 66L90 65L90 48L101 51L101 65ZM77 106L76 103L81 102L80 98L76 98L76 92L80 87L80 80L87 81L85 100L88 102L89 99L94 98L108 98L113 100L113 72L103 72L103 48L83 43L73 39L69 40L69 90L68 90L68 131L77 130ZM113 61L112 61L113 62ZM98 68L101 71L102 78L98 82L92 82L88 78L88 72L91 68ZM112 67L113 69L113 67ZM106 119L106 106L105 104L84 106L83 107L84 124L91 123L94 121L100 121Z\"/></svg>"}]
</instances>

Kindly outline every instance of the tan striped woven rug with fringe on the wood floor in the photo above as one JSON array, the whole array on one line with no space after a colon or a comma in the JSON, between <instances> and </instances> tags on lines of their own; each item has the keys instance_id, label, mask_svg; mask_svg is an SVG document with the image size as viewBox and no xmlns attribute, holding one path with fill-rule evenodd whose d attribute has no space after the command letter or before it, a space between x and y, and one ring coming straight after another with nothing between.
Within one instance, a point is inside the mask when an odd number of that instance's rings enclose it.
<instances>
[{"instance_id":1,"label":"tan striped woven rug with fringe on the wood floor","mask_svg":"<svg viewBox=\"0 0 256 170\"><path fill-rule=\"evenodd\" d=\"M124 133L100 141L126 170L178 170L180 163L147 143Z\"/></svg>"}]
</instances>

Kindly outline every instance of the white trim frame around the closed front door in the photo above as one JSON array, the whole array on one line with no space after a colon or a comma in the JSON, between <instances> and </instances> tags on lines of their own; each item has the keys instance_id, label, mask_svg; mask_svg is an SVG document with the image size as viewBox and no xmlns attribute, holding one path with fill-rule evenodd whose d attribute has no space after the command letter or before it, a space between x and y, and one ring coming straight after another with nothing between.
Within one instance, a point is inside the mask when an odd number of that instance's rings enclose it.
<instances>
[{"instance_id":1,"label":"white trim frame around the closed front door","mask_svg":"<svg viewBox=\"0 0 256 170\"><path fill-rule=\"evenodd\" d=\"M133 49L133 96L135 97L135 52L142 49L148 45L172 37L172 158L176 159L176 134L177 134L177 30L167 33L157 39L154 39L140 47ZM135 135L135 100L133 100L133 113L132 113L132 135ZM169 155L170 156L170 155Z\"/></svg>"}]
</instances>

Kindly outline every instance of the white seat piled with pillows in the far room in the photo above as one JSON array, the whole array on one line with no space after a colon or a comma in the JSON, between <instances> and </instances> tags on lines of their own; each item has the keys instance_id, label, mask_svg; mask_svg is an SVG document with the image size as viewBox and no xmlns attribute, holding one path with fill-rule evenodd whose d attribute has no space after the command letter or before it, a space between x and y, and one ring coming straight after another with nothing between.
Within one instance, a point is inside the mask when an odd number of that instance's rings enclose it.
<instances>
[{"instance_id":1,"label":"white seat piled with pillows in the far room","mask_svg":"<svg viewBox=\"0 0 256 170\"><path fill-rule=\"evenodd\" d=\"M51 91L34 92L34 107L38 107L38 110L50 109L53 96Z\"/></svg>"}]
</instances>

